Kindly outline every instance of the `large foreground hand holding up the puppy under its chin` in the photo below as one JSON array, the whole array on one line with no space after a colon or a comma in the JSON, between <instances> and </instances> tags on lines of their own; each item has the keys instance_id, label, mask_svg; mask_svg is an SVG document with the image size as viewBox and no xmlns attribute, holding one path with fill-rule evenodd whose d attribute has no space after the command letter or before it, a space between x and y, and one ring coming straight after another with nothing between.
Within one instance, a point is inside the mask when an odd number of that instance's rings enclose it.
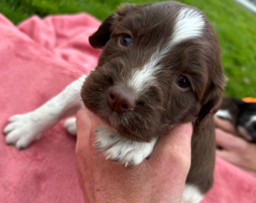
<instances>
[{"instance_id":1,"label":"large foreground hand holding up the puppy under its chin","mask_svg":"<svg viewBox=\"0 0 256 203\"><path fill-rule=\"evenodd\" d=\"M134 168L105 160L91 133L98 119L77 114L77 168L85 202L181 202L191 159L192 124L184 123L159 139L152 154Z\"/></svg>"}]
</instances>

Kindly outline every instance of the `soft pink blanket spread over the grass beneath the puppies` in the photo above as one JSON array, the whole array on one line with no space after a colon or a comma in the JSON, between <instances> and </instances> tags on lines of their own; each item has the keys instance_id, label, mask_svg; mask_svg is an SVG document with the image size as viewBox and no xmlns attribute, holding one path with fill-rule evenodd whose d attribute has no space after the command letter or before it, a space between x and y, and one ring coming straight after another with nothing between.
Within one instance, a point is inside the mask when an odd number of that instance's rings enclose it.
<instances>
[{"instance_id":1,"label":"soft pink blanket spread over the grass beneath the puppies","mask_svg":"<svg viewBox=\"0 0 256 203\"><path fill-rule=\"evenodd\" d=\"M37 108L77 77L63 74L94 68L100 51L88 36L99 24L79 14L32 17L15 27L0 15L0 129L9 116ZM83 202L75 144L63 121L23 151L0 136L0 202ZM203 202L256 202L256 178L217 159L215 185Z\"/></svg>"}]
</instances>

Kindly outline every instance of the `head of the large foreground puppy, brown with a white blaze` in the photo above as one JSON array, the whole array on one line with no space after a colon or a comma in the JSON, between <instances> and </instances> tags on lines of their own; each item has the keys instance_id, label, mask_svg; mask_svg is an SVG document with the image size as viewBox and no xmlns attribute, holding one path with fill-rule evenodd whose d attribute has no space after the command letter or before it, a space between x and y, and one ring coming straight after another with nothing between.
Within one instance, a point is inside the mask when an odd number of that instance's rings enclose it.
<instances>
[{"instance_id":1,"label":"head of the large foreground puppy, brown with a white blaze","mask_svg":"<svg viewBox=\"0 0 256 203\"><path fill-rule=\"evenodd\" d=\"M180 122L200 134L224 88L214 30L177 2L123 5L89 38L103 48L82 87L85 106L119 134L150 141Z\"/></svg>"}]
</instances>

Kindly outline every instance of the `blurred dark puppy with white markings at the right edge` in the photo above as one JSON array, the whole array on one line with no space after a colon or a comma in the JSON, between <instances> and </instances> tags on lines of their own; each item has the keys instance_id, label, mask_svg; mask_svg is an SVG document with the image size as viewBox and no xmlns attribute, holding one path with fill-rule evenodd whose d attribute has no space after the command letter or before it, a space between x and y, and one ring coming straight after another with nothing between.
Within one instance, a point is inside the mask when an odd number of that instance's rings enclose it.
<instances>
[{"instance_id":1,"label":"blurred dark puppy with white markings at the right edge","mask_svg":"<svg viewBox=\"0 0 256 203\"><path fill-rule=\"evenodd\" d=\"M215 115L230 120L242 138L256 143L256 103L223 97L221 108Z\"/></svg>"}]
</instances>

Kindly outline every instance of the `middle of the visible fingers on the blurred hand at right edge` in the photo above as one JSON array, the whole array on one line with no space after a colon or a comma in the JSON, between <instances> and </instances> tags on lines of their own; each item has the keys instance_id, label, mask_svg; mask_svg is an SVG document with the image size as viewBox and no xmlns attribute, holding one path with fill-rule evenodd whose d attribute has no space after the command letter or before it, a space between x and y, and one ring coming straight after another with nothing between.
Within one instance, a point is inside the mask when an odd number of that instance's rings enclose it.
<instances>
[{"instance_id":1,"label":"middle of the visible fingers on the blurred hand at right edge","mask_svg":"<svg viewBox=\"0 0 256 203\"><path fill-rule=\"evenodd\" d=\"M237 136L227 133L221 129L215 129L216 144L229 151L242 152L246 150L248 143Z\"/></svg>"}]
</instances>

